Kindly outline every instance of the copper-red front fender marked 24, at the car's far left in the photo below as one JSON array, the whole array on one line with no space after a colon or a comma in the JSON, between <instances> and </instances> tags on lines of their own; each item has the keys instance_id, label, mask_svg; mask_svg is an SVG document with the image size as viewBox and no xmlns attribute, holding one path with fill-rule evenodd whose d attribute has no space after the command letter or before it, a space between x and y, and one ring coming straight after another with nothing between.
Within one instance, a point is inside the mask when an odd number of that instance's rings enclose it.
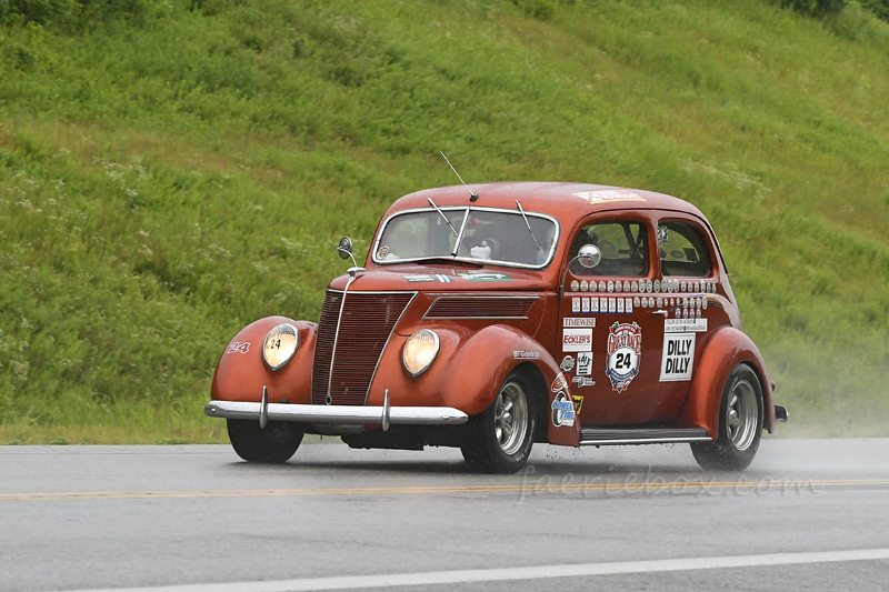
<instances>
[{"instance_id":1,"label":"copper-red front fender marked 24, at the car's far left","mask_svg":"<svg viewBox=\"0 0 889 592\"><path fill-rule=\"evenodd\" d=\"M299 348L293 359L280 370L271 370L262 360L262 344L269 331L290 323L299 333ZM210 388L213 401L258 402L262 388L269 402L311 403L312 359L318 325L286 317L267 317L243 328L226 347Z\"/></svg>"}]
</instances>

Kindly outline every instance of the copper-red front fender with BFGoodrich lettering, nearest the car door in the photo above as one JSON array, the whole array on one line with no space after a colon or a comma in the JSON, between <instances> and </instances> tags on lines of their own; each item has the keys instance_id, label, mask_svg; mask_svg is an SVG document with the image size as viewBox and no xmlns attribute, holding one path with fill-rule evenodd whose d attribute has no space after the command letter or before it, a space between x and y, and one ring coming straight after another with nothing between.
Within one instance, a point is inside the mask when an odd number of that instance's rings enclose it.
<instances>
[{"instance_id":1,"label":"copper-red front fender with BFGoodrich lettering, nearest the car door","mask_svg":"<svg viewBox=\"0 0 889 592\"><path fill-rule=\"evenodd\" d=\"M423 374L411 377L404 370L401 352L407 337L392 334L383 353L368 404L382 404L386 390L392 405L441 405L463 411L468 415L483 412L493 402L500 385L512 369L528 364L538 370L535 387L538 401L547 402L549 412L556 398L550 385L558 377L559 364L530 335L508 325L495 324L479 331L453 325L424 324L439 335L439 354ZM563 389L566 394L568 389ZM545 395L545 397L543 397ZM578 445L580 422L556 427L548 423L548 440L553 444Z\"/></svg>"}]
</instances>

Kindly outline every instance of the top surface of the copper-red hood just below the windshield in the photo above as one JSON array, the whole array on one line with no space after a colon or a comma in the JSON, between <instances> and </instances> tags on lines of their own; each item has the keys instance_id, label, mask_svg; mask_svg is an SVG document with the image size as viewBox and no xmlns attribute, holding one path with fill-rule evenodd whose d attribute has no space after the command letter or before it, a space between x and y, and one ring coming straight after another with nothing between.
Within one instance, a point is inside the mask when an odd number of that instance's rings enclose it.
<instances>
[{"instance_id":1,"label":"top surface of the copper-red hood just below the windshield","mask_svg":"<svg viewBox=\"0 0 889 592\"><path fill-rule=\"evenodd\" d=\"M490 290L546 290L547 274L505 267L461 264L397 264L359 271L349 291L401 291L433 290L437 292L466 292ZM332 290L342 290L349 275L343 274L328 284Z\"/></svg>"}]
</instances>

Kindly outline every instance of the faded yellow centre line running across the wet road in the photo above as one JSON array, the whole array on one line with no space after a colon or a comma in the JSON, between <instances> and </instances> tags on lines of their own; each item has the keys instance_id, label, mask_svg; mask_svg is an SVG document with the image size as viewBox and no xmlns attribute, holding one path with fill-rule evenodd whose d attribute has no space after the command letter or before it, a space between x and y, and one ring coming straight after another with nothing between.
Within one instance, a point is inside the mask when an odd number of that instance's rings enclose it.
<instances>
[{"instance_id":1,"label":"faded yellow centre line running across the wet road","mask_svg":"<svg viewBox=\"0 0 889 592\"><path fill-rule=\"evenodd\" d=\"M741 476L738 481L653 481L635 482L633 474L627 479L611 482L600 482L601 478L593 478L593 482L571 483L540 475L533 482L517 483L511 485L429 485L407 488L329 488L329 489L272 489L272 490L218 490L218 491L86 491L86 492L48 492L48 493L0 493L2 501L34 501L34 500L141 500L166 498L280 498L298 495L404 495L427 493L582 493L589 491L617 492L657 492L672 491L687 492L689 490L736 490L768 492L783 490L785 492L802 492L805 490L818 491L823 488L841 488L855 485L889 485L889 479L836 479L836 480L773 480L770 478L751 481ZM546 480L546 483L543 481Z\"/></svg>"}]
</instances>

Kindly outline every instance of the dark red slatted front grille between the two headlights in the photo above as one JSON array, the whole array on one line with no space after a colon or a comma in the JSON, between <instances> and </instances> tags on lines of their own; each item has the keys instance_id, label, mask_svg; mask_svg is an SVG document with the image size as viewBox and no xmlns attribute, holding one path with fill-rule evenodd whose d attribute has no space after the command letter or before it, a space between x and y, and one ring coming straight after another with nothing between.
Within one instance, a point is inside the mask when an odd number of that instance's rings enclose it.
<instances>
[{"instance_id":1,"label":"dark red slatted front grille between the two headlights","mask_svg":"<svg viewBox=\"0 0 889 592\"><path fill-rule=\"evenodd\" d=\"M312 404L326 403L328 384L331 404L364 404L382 350L414 295L416 292L348 292L337 338L343 294L328 290L314 345Z\"/></svg>"}]
</instances>

